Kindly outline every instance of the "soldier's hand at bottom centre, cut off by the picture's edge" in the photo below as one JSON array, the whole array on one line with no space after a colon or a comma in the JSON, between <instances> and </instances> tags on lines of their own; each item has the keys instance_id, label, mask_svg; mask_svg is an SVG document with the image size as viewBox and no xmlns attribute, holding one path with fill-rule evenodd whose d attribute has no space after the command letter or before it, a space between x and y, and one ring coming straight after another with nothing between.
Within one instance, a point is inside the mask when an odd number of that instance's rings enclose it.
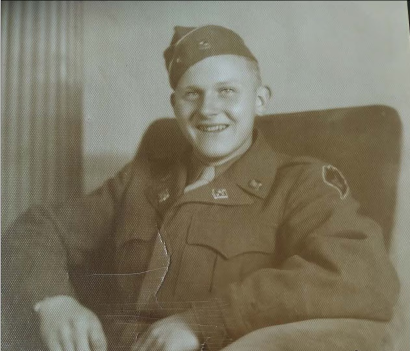
<instances>
[{"instance_id":1,"label":"soldier's hand at bottom centre, cut off by the picture's edge","mask_svg":"<svg viewBox=\"0 0 410 351\"><path fill-rule=\"evenodd\" d=\"M183 315L175 314L152 324L131 351L197 351L200 347L191 325Z\"/></svg>"}]
</instances>

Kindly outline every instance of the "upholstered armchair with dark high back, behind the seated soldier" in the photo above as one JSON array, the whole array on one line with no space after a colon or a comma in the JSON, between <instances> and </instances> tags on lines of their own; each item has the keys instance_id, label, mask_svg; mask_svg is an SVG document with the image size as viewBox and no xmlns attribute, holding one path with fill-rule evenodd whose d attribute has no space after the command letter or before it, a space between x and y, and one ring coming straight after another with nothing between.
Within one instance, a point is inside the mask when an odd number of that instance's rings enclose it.
<instances>
[{"instance_id":1,"label":"upholstered armchair with dark high back, behind the seated soldier","mask_svg":"<svg viewBox=\"0 0 410 351\"><path fill-rule=\"evenodd\" d=\"M339 168L362 213L381 225L390 247L401 138L393 108L373 105L266 115L257 119L256 127L279 152L313 156ZM161 119L148 128L138 152L157 157L179 153L184 144L176 121ZM393 350L388 330L387 323L376 321L314 319L256 330L224 351Z\"/></svg>"}]
</instances>

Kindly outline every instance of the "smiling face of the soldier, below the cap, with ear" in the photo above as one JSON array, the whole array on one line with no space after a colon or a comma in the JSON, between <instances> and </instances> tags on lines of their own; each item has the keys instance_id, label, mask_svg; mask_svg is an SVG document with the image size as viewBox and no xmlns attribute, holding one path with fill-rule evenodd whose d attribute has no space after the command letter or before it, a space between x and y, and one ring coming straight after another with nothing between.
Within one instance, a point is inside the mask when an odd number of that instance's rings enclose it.
<instances>
[{"instance_id":1,"label":"smiling face of the soldier, below the cap, with ear","mask_svg":"<svg viewBox=\"0 0 410 351\"><path fill-rule=\"evenodd\" d=\"M252 144L255 115L264 112L268 98L256 62L219 55L189 67L179 79L171 103L198 159L220 165Z\"/></svg>"}]
</instances>

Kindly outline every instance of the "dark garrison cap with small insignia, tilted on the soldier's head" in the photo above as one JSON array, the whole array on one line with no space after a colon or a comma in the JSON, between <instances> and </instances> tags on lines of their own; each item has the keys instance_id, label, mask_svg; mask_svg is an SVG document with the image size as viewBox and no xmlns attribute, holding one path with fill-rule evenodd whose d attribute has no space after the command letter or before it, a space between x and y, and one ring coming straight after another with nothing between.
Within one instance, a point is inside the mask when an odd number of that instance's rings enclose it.
<instances>
[{"instance_id":1,"label":"dark garrison cap with small insignia, tilted on the soldier's head","mask_svg":"<svg viewBox=\"0 0 410 351\"><path fill-rule=\"evenodd\" d=\"M169 83L175 89L185 71L209 56L237 55L258 62L235 32L217 25L174 27L171 44L164 51Z\"/></svg>"}]
</instances>

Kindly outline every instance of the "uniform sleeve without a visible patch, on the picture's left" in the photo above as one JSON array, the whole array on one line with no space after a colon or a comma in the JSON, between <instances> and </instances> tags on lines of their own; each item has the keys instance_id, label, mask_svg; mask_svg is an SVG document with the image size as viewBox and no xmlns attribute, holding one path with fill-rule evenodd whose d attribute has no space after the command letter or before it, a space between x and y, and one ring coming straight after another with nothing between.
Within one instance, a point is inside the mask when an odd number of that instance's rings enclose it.
<instances>
[{"instance_id":1,"label":"uniform sleeve without a visible patch, on the picture's left","mask_svg":"<svg viewBox=\"0 0 410 351\"><path fill-rule=\"evenodd\" d=\"M1 237L2 312L12 330L32 321L34 305L75 291L68 268L92 261L114 225L133 164L83 198L34 206Z\"/></svg>"}]
</instances>

